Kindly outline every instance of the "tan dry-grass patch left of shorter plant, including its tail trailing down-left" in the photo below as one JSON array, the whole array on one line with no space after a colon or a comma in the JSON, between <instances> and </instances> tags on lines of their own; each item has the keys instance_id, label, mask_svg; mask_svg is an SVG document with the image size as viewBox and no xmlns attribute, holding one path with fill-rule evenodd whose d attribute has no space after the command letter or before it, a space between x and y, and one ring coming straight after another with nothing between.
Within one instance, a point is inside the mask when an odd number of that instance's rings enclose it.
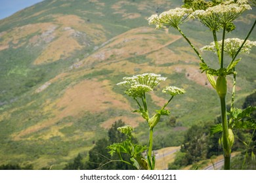
<instances>
[{"instance_id":1,"label":"tan dry-grass patch left of shorter plant, including its tail trailing down-left","mask_svg":"<svg viewBox=\"0 0 256 183\"><path fill-rule=\"evenodd\" d=\"M51 127L56 122L67 116L79 116L84 111L104 112L108 108L121 108L132 110L129 102L123 95L112 92L108 80L83 80L79 84L68 88L60 99L54 102L46 101L41 115L51 113L52 116L32 125L18 133L12 134L14 141L20 140L25 135L35 133L41 129ZM58 129L58 128L57 128ZM61 136L57 129L50 129L45 138L52 135Z\"/></svg>"}]
</instances>

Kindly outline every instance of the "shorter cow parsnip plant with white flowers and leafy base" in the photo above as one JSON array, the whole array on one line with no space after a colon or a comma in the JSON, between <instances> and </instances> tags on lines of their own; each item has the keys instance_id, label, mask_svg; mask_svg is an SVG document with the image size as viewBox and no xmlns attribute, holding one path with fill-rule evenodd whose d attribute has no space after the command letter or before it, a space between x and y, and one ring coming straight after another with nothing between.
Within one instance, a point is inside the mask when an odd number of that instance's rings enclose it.
<instances>
[{"instance_id":1,"label":"shorter cow parsnip plant with white flowers and leafy base","mask_svg":"<svg viewBox=\"0 0 256 183\"><path fill-rule=\"evenodd\" d=\"M156 86L158 86L160 82L165 81L166 78L154 73L144 73L142 75L124 77L123 80L124 81L119 82L117 86L122 86L125 88L125 94L132 97L137 103L138 109L133 112L139 112L142 118L146 120L149 130L149 142L148 146L137 144L132 140L133 127L119 127L118 130L121 133L124 133L127 136L127 139L121 143L114 143L108 146L108 149L110 149L110 154L118 154L120 161L133 165L137 169L154 170L155 157L154 154L152 154L154 127L156 127L162 115L169 115L170 112L169 110L165 109L165 107L167 107L173 97L175 95L181 95L185 93L185 91L182 88L177 88L175 86L166 86L163 88L162 92L169 96L169 100L165 103L165 105L163 105L162 108L156 110L156 113L150 117L146 94L149 92L154 92ZM142 157L142 152L145 150L147 150L146 158ZM128 154L130 161L124 161L122 154Z\"/></svg>"}]
</instances>

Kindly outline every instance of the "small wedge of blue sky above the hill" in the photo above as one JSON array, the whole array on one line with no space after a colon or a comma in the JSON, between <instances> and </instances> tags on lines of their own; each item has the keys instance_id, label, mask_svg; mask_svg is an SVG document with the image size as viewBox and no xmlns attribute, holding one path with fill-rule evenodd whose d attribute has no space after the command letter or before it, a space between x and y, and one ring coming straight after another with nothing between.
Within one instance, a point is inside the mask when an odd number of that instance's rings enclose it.
<instances>
[{"instance_id":1,"label":"small wedge of blue sky above the hill","mask_svg":"<svg viewBox=\"0 0 256 183\"><path fill-rule=\"evenodd\" d=\"M43 0L0 0L0 20Z\"/></svg>"}]
</instances>

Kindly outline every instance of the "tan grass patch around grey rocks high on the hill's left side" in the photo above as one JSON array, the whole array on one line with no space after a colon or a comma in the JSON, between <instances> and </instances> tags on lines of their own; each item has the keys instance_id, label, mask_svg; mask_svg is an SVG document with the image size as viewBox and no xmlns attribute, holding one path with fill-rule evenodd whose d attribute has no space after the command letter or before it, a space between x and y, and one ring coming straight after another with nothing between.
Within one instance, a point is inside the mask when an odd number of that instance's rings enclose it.
<instances>
[{"instance_id":1,"label":"tan grass patch around grey rocks high on the hill's left side","mask_svg":"<svg viewBox=\"0 0 256 183\"><path fill-rule=\"evenodd\" d=\"M34 61L35 65L67 58L75 50L83 48L74 37L76 31L86 32L88 37L90 37L91 41L95 42L95 44L106 41L102 25L87 24L85 20L73 14L55 14L53 18L54 23L60 25L60 27L54 31L58 38L54 39L54 41L43 50L41 55Z\"/></svg>"}]
</instances>

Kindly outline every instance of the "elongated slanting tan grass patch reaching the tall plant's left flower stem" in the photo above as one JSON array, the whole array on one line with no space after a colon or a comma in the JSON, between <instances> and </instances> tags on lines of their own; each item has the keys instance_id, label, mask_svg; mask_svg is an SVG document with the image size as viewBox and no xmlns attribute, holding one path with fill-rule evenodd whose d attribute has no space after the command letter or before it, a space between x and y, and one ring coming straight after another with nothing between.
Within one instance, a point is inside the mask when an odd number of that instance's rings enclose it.
<instances>
[{"instance_id":1,"label":"elongated slanting tan grass patch reaching the tall plant's left flower stem","mask_svg":"<svg viewBox=\"0 0 256 183\"><path fill-rule=\"evenodd\" d=\"M156 52L161 48L179 40L181 36L171 34L156 34L155 29L139 27L118 35L104 47L82 61L82 65L102 61L120 61ZM104 64L105 62L103 62Z\"/></svg>"}]
</instances>

